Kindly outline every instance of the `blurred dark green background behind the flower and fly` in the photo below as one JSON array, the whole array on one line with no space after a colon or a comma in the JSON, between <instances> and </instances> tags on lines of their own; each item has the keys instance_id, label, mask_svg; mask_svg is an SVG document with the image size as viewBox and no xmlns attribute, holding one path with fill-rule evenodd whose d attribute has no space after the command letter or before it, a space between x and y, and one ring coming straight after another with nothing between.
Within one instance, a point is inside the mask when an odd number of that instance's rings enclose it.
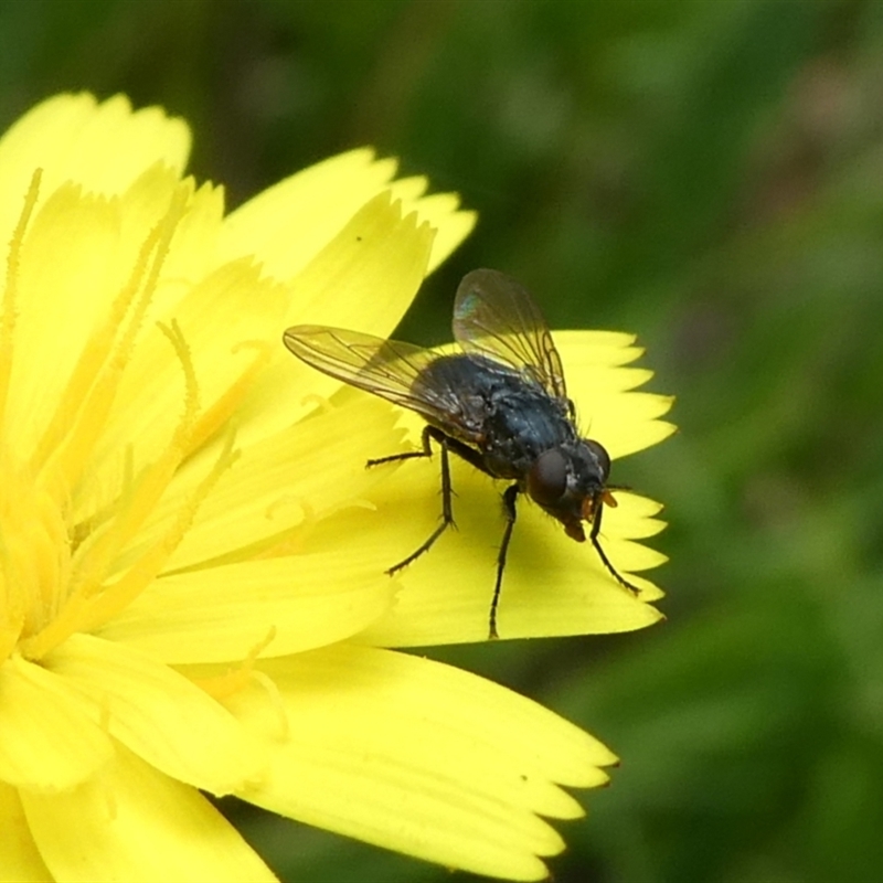
<instances>
[{"instance_id":1,"label":"blurred dark green background behind the flower and fly","mask_svg":"<svg viewBox=\"0 0 883 883\"><path fill-rule=\"evenodd\" d=\"M234 205L362 143L458 190L402 337L475 266L637 332L681 432L616 478L667 504L668 621L434 655L623 757L558 883L883 880L883 4L4 0L0 81L3 127L76 88L185 116ZM225 809L286 880L449 879Z\"/></svg>"}]
</instances>

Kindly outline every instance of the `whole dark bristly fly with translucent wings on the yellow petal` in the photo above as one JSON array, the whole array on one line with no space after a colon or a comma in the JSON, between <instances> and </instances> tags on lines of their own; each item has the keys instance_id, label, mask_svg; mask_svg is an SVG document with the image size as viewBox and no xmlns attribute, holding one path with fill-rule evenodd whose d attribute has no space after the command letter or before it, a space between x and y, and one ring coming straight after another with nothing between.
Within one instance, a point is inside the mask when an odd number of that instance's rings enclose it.
<instances>
[{"instance_id":1,"label":"whole dark bristly fly with translucent wings on the yellow petal","mask_svg":"<svg viewBox=\"0 0 883 883\"><path fill-rule=\"evenodd\" d=\"M514 279L476 269L457 289L453 325L461 352L449 355L323 326L296 326L284 336L285 345L312 368L411 408L426 421L419 450L371 459L368 466L430 457L432 443L439 448L442 521L387 573L428 552L454 523L450 453L491 478L512 482L502 494L506 528L488 617L490 638L498 637L497 608L519 494L526 493L577 542L585 542L583 522L587 522L588 539L604 566L621 586L637 593L598 540L604 506L616 506L607 486L610 457L598 442L576 429L561 357L539 307Z\"/></svg>"}]
</instances>

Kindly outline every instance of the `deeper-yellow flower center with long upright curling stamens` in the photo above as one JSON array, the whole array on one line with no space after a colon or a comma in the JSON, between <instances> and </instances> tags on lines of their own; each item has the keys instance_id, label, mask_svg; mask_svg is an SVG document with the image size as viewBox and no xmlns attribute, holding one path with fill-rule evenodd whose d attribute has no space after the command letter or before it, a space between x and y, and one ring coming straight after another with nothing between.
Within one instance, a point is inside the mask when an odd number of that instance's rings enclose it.
<instances>
[{"instance_id":1,"label":"deeper-yellow flower center with long upright curling stamens","mask_svg":"<svg viewBox=\"0 0 883 883\"><path fill-rule=\"evenodd\" d=\"M136 542L181 462L219 428L223 416L219 412L208 419L203 413L191 353L172 319L161 330L169 340L169 358L180 364L184 379L177 427L164 449L152 451L134 472L127 470L116 494L105 497L95 510L81 511L74 522L71 500L82 500L93 480L96 443L120 393L171 240L187 214L192 182L171 192L168 210L147 234L128 281L85 342L54 411L41 414L38 443L26 457L12 453L17 447L8 442L15 426L4 405L19 355L19 266L32 259L23 243L39 187L38 172L10 243L0 308L0 662L13 651L38 660L72 634L94 630L128 606L161 573L235 456L231 436L202 480L177 500L161 530ZM127 549L138 551L120 568Z\"/></svg>"}]
</instances>

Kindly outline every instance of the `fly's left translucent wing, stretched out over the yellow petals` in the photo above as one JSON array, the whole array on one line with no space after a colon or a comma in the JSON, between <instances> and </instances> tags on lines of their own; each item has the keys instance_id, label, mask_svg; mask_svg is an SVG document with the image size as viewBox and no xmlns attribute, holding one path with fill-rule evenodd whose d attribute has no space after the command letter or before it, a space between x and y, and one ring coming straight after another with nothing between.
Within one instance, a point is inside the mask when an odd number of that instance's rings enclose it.
<instances>
[{"instance_id":1,"label":"fly's left translucent wing, stretched out over the yellow petals","mask_svg":"<svg viewBox=\"0 0 883 883\"><path fill-rule=\"evenodd\" d=\"M416 411L436 424L457 425L461 407L456 391L417 383L437 353L341 328L299 325L283 336L298 359L332 377Z\"/></svg>"}]
</instances>

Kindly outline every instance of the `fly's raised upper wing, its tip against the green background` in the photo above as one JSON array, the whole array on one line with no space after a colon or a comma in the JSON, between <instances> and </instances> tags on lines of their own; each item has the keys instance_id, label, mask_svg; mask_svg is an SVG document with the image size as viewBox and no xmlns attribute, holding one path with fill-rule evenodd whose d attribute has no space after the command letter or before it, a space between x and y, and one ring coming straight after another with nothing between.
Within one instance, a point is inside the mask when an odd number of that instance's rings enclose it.
<instances>
[{"instance_id":1,"label":"fly's raised upper wing, its tip against the green background","mask_svg":"<svg viewBox=\"0 0 883 883\"><path fill-rule=\"evenodd\" d=\"M525 371L567 401L564 371L543 313L528 290L496 269L464 276L454 300L454 337L467 352Z\"/></svg>"}]
</instances>

